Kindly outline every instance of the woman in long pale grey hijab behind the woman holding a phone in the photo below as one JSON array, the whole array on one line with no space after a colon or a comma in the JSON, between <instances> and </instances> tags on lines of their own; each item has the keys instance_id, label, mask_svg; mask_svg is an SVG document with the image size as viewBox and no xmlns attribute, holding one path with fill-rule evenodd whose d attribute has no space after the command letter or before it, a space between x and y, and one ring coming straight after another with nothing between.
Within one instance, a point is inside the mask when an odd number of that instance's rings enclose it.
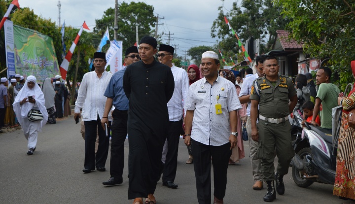
<instances>
[{"instance_id":1,"label":"woman in long pale grey hijab behind the woman holding a phone","mask_svg":"<svg viewBox=\"0 0 355 204\"><path fill-rule=\"evenodd\" d=\"M56 113L54 109L55 91L50 78L46 78L44 80L42 85L42 92L45 100L44 106L46 107L48 112L47 124L56 124L56 120L55 120Z\"/></svg>"}]
</instances>

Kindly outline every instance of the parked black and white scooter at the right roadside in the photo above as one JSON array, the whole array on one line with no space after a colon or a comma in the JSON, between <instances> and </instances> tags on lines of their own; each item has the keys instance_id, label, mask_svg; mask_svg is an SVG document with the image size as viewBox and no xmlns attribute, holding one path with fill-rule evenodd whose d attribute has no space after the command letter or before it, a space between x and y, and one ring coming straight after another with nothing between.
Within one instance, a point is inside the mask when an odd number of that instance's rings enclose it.
<instances>
[{"instance_id":1,"label":"parked black and white scooter at the right roadside","mask_svg":"<svg viewBox=\"0 0 355 204\"><path fill-rule=\"evenodd\" d=\"M300 187L313 182L334 184L338 143L331 132L305 123L304 133L294 142L293 181Z\"/></svg>"}]
</instances>

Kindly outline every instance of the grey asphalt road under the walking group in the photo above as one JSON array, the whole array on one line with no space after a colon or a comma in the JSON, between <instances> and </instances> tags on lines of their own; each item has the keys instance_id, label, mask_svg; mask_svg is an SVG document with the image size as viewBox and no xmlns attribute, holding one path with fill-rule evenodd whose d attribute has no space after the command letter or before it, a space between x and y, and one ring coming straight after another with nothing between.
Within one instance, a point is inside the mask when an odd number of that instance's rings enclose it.
<instances>
[{"instance_id":1,"label":"grey asphalt road under the walking group","mask_svg":"<svg viewBox=\"0 0 355 204\"><path fill-rule=\"evenodd\" d=\"M246 157L228 168L226 204L263 204L266 193L252 190L253 179L249 162L249 146L245 142ZM72 117L54 125L44 126L38 136L34 155L28 156L27 140L22 130L0 134L0 204L132 204L128 195L128 139L125 142L123 184L105 187L109 176L109 157L106 171L84 174L84 140L80 124ZM186 165L187 149L179 142L178 189L157 184L158 204L197 204L193 165ZM212 172L213 175L213 172ZM292 180L291 169L284 176L285 194L277 195L275 204L348 204L333 196L333 186L314 183L300 188ZM213 186L213 185L212 185ZM213 192L213 189L212 189Z\"/></svg>"}]
</instances>

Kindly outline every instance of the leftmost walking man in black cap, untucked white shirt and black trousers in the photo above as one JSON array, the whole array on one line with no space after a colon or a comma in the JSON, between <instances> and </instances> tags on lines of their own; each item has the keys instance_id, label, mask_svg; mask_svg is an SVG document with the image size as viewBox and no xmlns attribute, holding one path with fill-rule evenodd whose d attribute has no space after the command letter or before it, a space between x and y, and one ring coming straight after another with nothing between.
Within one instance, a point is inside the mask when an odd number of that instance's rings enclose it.
<instances>
[{"instance_id":1,"label":"leftmost walking man in black cap, untucked white shirt and black trousers","mask_svg":"<svg viewBox=\"0 0 355 204\"><path fill-rule=\"evenodd\" d=\"M105 164L108 154L109 137L101 126L101 119L104 116L106 87L112 74L105 71L106 54L95 52L95 71L84 74L81 86L78 90L78 97L75 102L74 119L80 117L80 108L84 106L83 121L85 124L85 161L84 173L90 173L96 169L105 171ZM108 114L111 121L111 114ZM109 133L109 128L107 128ZM95 156L96 132L99 133L99 146Z\"/></svg>"}]
</instances>

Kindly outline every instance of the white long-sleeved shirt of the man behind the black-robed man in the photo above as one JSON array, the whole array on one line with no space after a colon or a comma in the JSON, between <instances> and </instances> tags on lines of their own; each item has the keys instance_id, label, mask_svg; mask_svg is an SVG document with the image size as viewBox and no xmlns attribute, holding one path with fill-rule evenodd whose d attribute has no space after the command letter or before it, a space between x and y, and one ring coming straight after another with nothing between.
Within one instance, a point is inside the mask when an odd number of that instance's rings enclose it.
<instances>
[{"instance_id":1,"label":"white long-sleeved shirt of the man behind the black-robed man","mask_svg":"<svg viewBox=\"0 0 355 204\"><path fill-rule=\"evenodd\" d=\"M173 66L171 70L175 87L173 97L168 102L169 121L179 121L182 118L183 103L186 101L189 89L189 79L184 69Z\"/></svg>"}]
</instances>

